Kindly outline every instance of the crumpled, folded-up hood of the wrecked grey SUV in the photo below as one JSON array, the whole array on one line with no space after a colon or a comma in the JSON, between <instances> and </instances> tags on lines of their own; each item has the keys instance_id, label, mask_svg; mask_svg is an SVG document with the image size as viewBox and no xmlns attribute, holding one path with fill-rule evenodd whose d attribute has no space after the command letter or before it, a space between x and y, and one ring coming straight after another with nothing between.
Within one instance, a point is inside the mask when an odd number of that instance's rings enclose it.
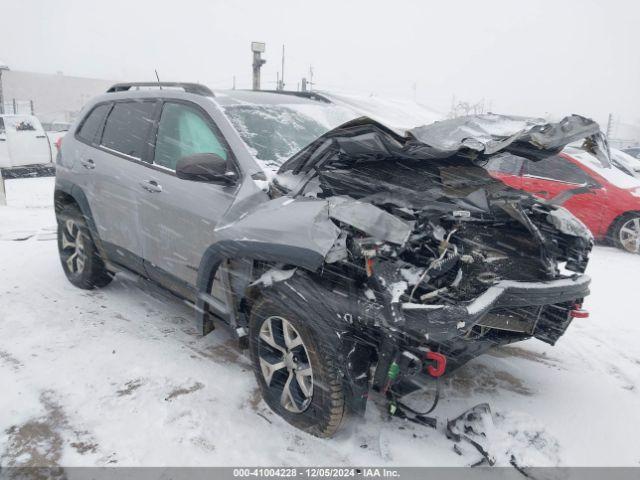
<instances>
[{"instance_id":1,"label":"crumpled, folded-up hood of the wrecked grey SUV","mask_svg":"<svg viewBox=\"0 0 640 480\"><path fill-rule=\"evenodd\" d=\"M497 114L469 115L413 128L401 136L367 117L347 122L309 144L287 160L278 173L306 173L322 168L336 153L352 158L393 156L437 160L455 155L482 158L509 152L542 160L566 145L585 139L591 153L608 166L609 148L599 125L571 115L560 122Z\"/></svg>"}]
</instances>

